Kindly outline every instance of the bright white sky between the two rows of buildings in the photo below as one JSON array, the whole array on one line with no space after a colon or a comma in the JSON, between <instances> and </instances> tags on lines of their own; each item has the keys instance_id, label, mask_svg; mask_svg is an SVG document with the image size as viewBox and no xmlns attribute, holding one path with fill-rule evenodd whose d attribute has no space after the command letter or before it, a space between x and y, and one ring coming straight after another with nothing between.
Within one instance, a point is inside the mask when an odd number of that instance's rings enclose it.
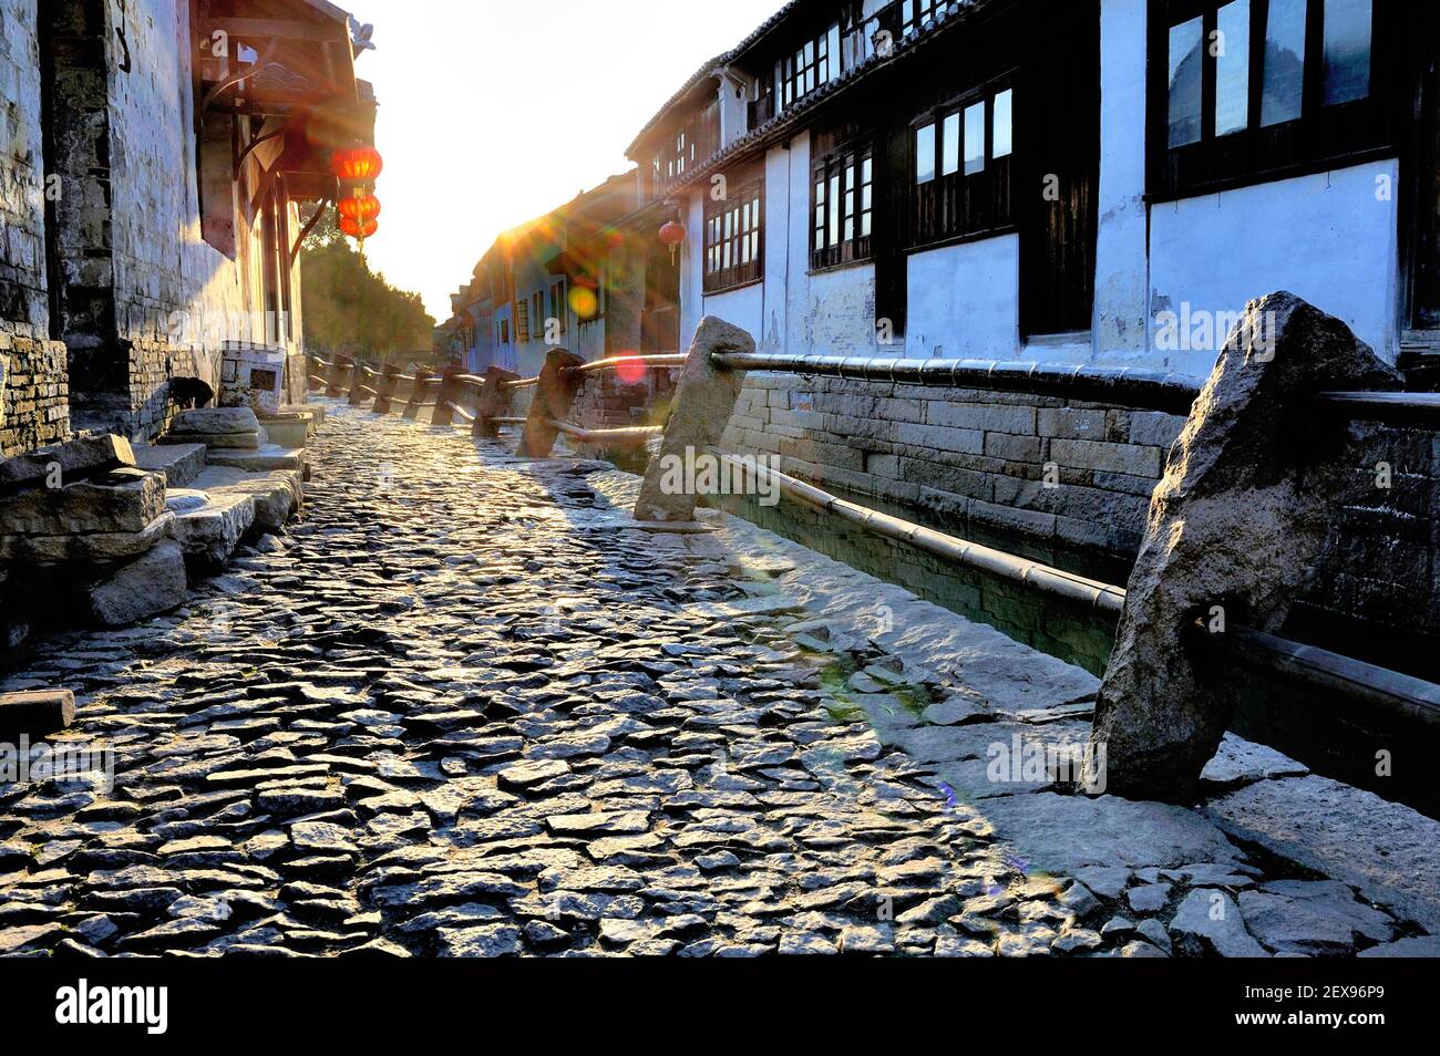
<instances>
[{"instance_id":1,"label":"bright white sky between the two rows of buildings","mask_svg":"<svg viewBox=\"0 0 1440 1056\"><path fill-rule=\"evenodd\" d=\"M494 237L629 167L625 147L703 62L783 0L340 0L374 23L372 266L436 322Z\"/></svg>"}]
</instances>

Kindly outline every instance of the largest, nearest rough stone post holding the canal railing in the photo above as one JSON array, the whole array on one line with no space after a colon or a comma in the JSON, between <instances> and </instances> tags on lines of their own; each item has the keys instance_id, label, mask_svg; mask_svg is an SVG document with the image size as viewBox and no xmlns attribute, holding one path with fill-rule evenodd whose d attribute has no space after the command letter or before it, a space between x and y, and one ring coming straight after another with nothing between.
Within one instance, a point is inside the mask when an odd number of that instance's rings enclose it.
<instances>
[{"instance_id":1,"label":"largest, nearest rough stone post holding the canal railing","mask_svg":"<svg viewBox=\"0 0 1440 1056\"><path fill-rule=\"evenodd\" d=\"M1401 387L1339 319L1293 293L1246 305L1155 488L1096 704L1090 787L1188 800L1234 712L1237 672L1197 666L1197 620L1277 633L1354 502L1351 423L1310 394ZM1102 750L1103 748L1103 750Z\"/></svg>"}]
</instances>

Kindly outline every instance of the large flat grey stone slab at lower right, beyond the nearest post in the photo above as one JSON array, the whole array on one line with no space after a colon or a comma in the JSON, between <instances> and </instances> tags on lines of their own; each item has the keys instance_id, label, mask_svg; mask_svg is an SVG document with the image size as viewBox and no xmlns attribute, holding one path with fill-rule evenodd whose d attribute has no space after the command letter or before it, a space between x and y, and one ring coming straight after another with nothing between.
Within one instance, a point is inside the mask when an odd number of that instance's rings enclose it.
<instances>
[{"instance_id":1,"label":"large flat grey stone slab at lower right, beyond the nearest post","mask_svg":"<svg viewBox=\"0 0 1440 1056\"><path fill-rule=\"evenodd\" d=\"M1440 821L1315 774L1247 786L1205 816L1440 934Z\"/></svg>"}]
</instances>

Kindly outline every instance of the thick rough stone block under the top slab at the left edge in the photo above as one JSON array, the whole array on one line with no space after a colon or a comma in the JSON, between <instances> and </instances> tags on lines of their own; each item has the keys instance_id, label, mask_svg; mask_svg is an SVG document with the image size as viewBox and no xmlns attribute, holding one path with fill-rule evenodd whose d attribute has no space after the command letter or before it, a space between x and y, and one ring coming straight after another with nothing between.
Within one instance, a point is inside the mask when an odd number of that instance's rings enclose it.
<instances>
[{"instance_id":1,"label":"thick rough stone block under the top slab at the left edge","mask_svg":"<svg viewBox=\"0 0 1440 1056\"><path fill-rule=\"evenodd\" d=\"M27 488L0 498L0 534L138 532L164 508L164 475L124 468L63 488Z\"/></svg>"}]
</instances>

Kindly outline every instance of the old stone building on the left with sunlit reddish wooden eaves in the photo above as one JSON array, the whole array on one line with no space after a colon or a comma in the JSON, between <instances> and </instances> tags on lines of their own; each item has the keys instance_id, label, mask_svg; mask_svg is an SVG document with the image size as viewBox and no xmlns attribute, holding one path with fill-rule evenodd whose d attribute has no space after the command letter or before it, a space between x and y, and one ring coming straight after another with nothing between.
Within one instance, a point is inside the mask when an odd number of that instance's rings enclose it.
<instances>
[{"instance_id":1,"label":"old stone building on the left with sunlit reddish wooden eaves","mask_svg":"<svg viewBox=\"0 0 1440 1056\"><path fill-rule=\"evenodd\" d=\"M325 0L0 0L0 455L153 437L228 350L304 400L300 206L373 140L357 52Z\"/></svg>"}]
</instances>

